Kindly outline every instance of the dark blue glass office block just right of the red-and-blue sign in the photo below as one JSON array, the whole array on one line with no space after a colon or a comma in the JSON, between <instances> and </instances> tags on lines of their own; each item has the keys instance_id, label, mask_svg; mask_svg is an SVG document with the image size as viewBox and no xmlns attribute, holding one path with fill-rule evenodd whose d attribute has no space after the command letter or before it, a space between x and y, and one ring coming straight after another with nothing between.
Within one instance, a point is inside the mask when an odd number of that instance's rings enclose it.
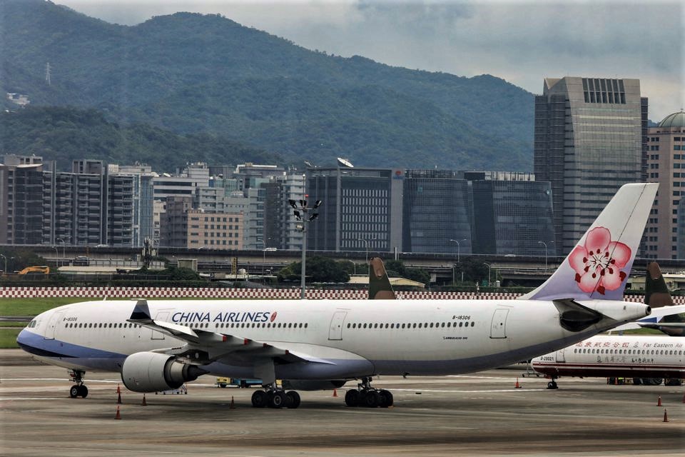
<instances>
[{"instance_id":1,"label":"dark blue glass office block just right of the red-and-blue sign","mask_svg":"<svg viewBox=\"0 0 685 457\"><path fill-rule=\"evenodd\" d=\"M472 252L469 185L456 171L407 170L402 251Z\"/></svg>"}]
</instances>

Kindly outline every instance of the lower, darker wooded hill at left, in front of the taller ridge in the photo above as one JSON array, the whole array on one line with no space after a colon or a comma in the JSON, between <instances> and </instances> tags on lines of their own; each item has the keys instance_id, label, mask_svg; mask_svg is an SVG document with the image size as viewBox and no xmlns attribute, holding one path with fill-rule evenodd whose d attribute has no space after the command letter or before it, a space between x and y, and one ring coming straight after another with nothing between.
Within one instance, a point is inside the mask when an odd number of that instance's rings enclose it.
<instances>
[{"instance_id":1,"label":"lower, darker wooded hill at left, in front of the taller ridge","mask_svg":"<svg viewBox=\"0 0 685 457\"><path fill-rule=\"evenodd\" d=\"M102 159L111 164L154 164L171 171L188 162L258 164L283 157L209 134L178 135L145 124L121 126L94 109L29 106L0 113L0 149L4 154L43 156L71 170L74 159Z\"/></svg>"}]
</instances>

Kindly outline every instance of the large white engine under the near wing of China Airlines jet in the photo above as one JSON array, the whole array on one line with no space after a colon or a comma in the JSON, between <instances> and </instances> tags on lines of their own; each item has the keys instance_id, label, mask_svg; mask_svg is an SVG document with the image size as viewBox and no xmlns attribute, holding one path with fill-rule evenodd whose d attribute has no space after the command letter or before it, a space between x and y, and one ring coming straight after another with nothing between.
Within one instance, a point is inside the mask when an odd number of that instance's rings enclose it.
<instances>
[{"instance_id":1,"label":"large white engine under the near wing of China Airlines jet","mask_svg":"<svg viewBox=\"0 0 685 457\"><path fill-rule=\"evenodd\" d=\"M121 366L121 381L130 391L159 392L183 386L207 373L195 365L177 362L173 356L156 352L137 352L126 357Z\"/></svg>"}]
</instances>

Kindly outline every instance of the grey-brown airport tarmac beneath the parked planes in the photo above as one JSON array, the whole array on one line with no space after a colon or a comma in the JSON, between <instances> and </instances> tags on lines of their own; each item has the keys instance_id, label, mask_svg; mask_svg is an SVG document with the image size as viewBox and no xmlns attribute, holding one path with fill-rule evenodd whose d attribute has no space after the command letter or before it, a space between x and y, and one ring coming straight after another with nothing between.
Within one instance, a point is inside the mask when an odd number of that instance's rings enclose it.
<instances>
[{"instance_id":1,"label":"grey-brown airport tarmac beneath the parked planes","mask_svg":"<svg viewBox=\"0 0 685 457\"><path fill-rule=\"evenodd\" d=\"M516 382L520 388L515 388ZM392 408L348 408L346 387L300 391L298 409L252 408L254 388L188 383L187 394L127 391L116 373L67 371L0 350L2 456L682 456L684 387L547 380L522 370L382 376ZM121 385L122 403L116 388ZM661 406L657 406L661 397ZM231 403L233 400L233 408ZM119 409L120 420L116 419ZM664 413L668 422L664 422Z\"/></svg>"}]
</instances>

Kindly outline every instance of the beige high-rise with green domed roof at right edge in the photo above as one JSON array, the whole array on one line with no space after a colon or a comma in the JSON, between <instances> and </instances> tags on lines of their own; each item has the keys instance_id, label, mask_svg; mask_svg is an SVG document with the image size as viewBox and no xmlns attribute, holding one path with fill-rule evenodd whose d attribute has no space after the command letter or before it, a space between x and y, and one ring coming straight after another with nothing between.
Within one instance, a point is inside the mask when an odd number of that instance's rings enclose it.
<instances>
[{"instance_id":1,"label":"beige high-rise with green domed roof at right edge","mask_svg":"<svg viewBox=\"0 0 685 457\"><path fill-rule=\"evenodd\" d=\"M685 113L666 116L648 133L647 181L659 183L659 192L647 221L646 257L684 258L678 217L685 196Z\"/></svg>"}]
</instances>

